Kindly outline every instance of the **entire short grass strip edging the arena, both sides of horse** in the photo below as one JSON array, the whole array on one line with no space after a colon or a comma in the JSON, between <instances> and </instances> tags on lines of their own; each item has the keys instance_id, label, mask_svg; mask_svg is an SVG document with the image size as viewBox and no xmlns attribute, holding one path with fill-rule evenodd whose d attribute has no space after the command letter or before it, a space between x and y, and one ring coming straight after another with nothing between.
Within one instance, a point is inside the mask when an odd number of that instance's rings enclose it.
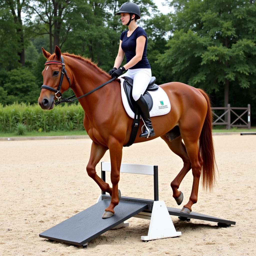
<instances>
[{"instance_id":1,"label":"entire short grass strip edging the arena, both sides of horse","mask_svg":"<svg viewBox=\"0 0 256 256\"><path fill-rule=\"evenodd\" d=\"M212 132L256 132L256 127L252 127L250 130L248 129L239 129L239 128L231 128L230 130L226 129L214 129ZM87 135L87 132L84 131L56 131L56 132L37 132L37 131L32 131L32 132L25 132L24 135L19 135L19 136L76 136L76 135ZM13 133L3 133L0 132L0 137L17 137L17 134L15 132Z\"/></svg>"}]
</instances>

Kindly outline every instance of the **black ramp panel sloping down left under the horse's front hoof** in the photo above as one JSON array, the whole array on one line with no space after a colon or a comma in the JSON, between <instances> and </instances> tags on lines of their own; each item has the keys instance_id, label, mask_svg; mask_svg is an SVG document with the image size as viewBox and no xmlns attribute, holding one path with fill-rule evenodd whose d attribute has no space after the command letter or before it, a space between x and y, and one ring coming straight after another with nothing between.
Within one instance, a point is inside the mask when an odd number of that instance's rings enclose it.
<instances>
[{"instance_id":1,"label":"black ramp panel sloping down left under the horse's front hoof","mask_svg":"<svg viewBox=\"0 0 256 256\"><path fill-rule=\"evenodd\" d=\"M39 237L82 246L93 238L98 237L148 208L147 204L120 201L115 207L114 216L108 219L102 219L101 216L109 204L110 200L104 199L42 232L39 234Z\"/></svg>"}]
</instances>

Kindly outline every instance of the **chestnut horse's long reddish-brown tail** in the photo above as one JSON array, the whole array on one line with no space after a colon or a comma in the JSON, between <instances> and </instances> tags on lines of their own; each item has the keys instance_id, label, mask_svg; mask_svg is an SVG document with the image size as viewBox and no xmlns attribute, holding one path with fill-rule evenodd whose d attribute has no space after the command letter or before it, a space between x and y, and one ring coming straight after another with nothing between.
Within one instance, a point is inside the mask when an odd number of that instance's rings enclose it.
<instances>
[{"instance_id":1,"label":"chestnut horse's long reddish-brown tail","mask_svg":"<svg viewBox=\"0 0 256 256\"><path fill-rule=\"evenodd\" d=\"M214 154L214 145L212 141L212 112L211 112L211 103L206 92L201 89L198 89L202 95L204 95L207 101L207 113L205 121L202 127L202 131L199 137L199 152L203 159L202 166L202 184L203 187L207 190L212 190L215 183L215 154ZM217 167L217 166L216 166Z\"/></svg>"}]
</instances>

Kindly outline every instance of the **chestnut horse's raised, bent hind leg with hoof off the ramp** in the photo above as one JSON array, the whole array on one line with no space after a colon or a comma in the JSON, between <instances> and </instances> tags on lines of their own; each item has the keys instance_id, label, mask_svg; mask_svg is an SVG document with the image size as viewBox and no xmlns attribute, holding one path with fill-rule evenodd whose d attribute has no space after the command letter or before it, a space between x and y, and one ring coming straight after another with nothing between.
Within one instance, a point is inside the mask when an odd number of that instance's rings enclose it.
<instances>
[{"instance_id":1,"label":"chestnut horse's raised, bent hind leg with hoof off the ramp","mask_svg":"<svg viewBox=\"0 0 256 256\"><path fill-rule=\"evenodd\" d=\"M179 174L176 176L176 178L172 181L171 187L173 190L173 197L176 200L177 204L180 205L183 200L183 194L181 191L178 191L178 188L180 186L180 183L182 182L183 178L186 176L188 171L191 169L191 163L189 160L189 157L186 152L185 145L182 142L182 137L179 136L175 138L174 140L170 141L169 138L167 138L165 135L161 136L161 138L166 142L170 150L172 150L173 153L178 155L183 160L183 168L180 170Z\"/></svg>"}]
</instances>

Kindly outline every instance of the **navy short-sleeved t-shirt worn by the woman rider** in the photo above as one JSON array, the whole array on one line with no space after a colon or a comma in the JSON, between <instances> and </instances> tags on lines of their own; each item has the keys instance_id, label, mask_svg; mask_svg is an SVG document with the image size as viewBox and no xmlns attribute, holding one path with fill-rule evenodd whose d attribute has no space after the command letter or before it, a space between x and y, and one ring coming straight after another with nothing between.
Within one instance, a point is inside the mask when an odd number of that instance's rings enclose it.
<instances>
[{"instance_id":1,"label":"navy short-sleeved t-shirt worn by the woman rider","mask_svg":"<svg viewBox=\"0 0 256 256\"><path fill-rule=\"evenodd\" d=\"M151 68L147 59L147 34L145 30L141 27L136 27L136 29L129 37L127 37L127 32L128 30L123 31L120 36L120 40L122 40L121 47L125 53L126 63L128 63L136 55L136 39L139 36L145 36L146 42L143 50L142 59L130 69Z\"/></svg>"}]
</instances>

